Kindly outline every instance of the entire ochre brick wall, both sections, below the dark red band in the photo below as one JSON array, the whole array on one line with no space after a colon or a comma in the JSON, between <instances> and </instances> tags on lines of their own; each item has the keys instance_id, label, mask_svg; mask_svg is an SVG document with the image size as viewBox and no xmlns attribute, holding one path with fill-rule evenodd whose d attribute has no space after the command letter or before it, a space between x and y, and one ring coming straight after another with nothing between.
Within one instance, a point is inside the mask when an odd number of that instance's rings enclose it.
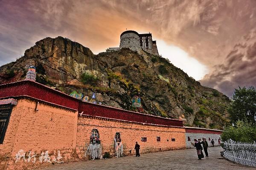
<instances>
[{"instance_id":1,"label":"entire ochre brick wall, both sections, below the dark red band","mask_svg":"<svg viewBox=\"0 0 256 170\"><path fill-rule=\"evenodd\" d=\"M51 163L39 160L45 151L48 151L51 161L53 156L57 157L58 150L64 162L88 159L84 153L93 129L99 130L103 155L110 152L114 156L113 138L116 132L121 134L125 155L130 155L129 150L131 154L135 153L136 141L141 146L140 153L186 147L183 127L132 123L91 115L78 116L77 111L42 102L38 105L38 111L35 111L36 103L32 99L19 99L17 106L13 106L3 144L0 144L0 170L50 166ZM160 136L160 142L157 142L157 136ZM147 141L142 142L141 137L147 137ZM21 158L15 163L19 150L26 153L26 161ZM37 155L35 163L32 162L33 158L27 162L29 151Z\"/></svg>"}]
</instances>

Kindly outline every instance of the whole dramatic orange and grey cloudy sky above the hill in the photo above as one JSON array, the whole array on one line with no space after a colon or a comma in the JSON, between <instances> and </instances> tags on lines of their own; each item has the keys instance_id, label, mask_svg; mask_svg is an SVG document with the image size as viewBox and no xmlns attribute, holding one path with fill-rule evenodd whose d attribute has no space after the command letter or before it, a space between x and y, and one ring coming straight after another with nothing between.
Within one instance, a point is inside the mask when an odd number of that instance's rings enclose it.
<instances>
[{"instance_id":1,"label":"whole dramatic orange and grey cloudy sky above the hill","mask_svg":"<svg viewBox=\"0 0 256 170\"><path fill-rule=\"evenodd\" d=\"M0 0L0 65L45 37L67 37L94 54L128 30L151 32L162 55L231 96L256 86L256 0Z\"/></svg>"}]
</instances>

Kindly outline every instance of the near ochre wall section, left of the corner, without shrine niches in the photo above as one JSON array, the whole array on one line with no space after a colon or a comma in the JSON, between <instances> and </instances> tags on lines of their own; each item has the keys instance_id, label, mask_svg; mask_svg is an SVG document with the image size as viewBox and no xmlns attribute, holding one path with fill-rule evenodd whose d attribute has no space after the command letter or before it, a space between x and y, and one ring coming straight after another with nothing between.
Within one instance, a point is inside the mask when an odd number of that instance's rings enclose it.
<instances>
[{"instance_id":1,"label":"near ochre wall section, left of the corner, without shrine niches","mask_svg":"<svg viewBox=\"0 0 256 170\"><path fill-rule=\"evenodd\" d=\"M58 150L64 161L74 159L78 112L61 109L27 99L18 100L12 109L3 144L0 144L1 169L26 169L44 166L39 161L42 152L48 150L51 158ZM15 163L19 150L35 152L36 163L23 159ZM27 156L27 155L26 155ZM26 157L27 159L27 157ZM49 163L48 163L49 165Z\"/></svg>"}]
</instances>

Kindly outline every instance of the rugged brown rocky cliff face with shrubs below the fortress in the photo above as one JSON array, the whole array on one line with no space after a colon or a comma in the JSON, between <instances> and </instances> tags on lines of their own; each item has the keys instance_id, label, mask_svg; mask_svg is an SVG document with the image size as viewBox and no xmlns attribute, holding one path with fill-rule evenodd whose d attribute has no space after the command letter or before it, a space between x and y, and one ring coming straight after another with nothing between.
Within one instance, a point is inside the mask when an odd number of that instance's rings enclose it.
<instances>
[{"instance_id":1,"label":"rugged brown rocky cliff face with shrubs below the fortress","mask_svg":"<svg viewBox=\"0 0 256 170\"><path fill-rule=\"evenodd\" d=\"M183 119L187 126L221 128L227 121L229 98L198 81L172 63L130 49L93 55L90 49L67 38L45 38L23 57L0 67L0 84L23 80L34 65L37 81L70 94L96 93L104 105L138 111L132 98L141 97L146 114Z\"/></svg>"}]
</instances>

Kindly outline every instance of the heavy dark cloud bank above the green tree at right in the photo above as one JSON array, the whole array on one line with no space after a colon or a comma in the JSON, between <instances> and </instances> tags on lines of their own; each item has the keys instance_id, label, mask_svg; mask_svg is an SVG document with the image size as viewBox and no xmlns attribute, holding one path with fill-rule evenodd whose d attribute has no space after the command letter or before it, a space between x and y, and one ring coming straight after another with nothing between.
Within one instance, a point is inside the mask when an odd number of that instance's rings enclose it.
<instances>
[{"instance_id":1,"label":"heavy dark cloud bank above the green tree at right","mask_svg":"<svg viewBox=\"0 0 256 170\"><path fill-rule=\"evenodd\" d=\"M256 31L241 38L224 64L206 75L201 83L232 96L238 86L256 86Z\"/></svg>"}]
</instances>

